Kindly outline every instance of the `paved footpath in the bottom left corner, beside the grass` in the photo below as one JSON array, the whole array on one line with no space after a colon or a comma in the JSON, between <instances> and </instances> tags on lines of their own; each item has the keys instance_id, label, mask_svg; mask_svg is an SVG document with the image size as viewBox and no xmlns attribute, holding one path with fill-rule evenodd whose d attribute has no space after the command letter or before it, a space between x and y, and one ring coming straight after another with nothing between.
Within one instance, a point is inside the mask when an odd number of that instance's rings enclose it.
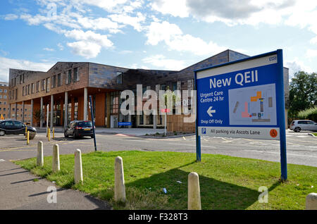
<instances>
[{"instance_id":1,"label":"paved footpath in the bottom left corner, beside the grass","mask_svg":"<svg viewBox=\"0 0 317 224\"><path fill-rule=\"evenodd\" d=\"M34 181L38 179L38 181ZM56 187L56 203L49 203L48 187ZM105 201L30 174L10 161L0 160L0 209L18 210L109 210ZM51 200L49 200L51 201Z\"/></svg>"}]
</instances>

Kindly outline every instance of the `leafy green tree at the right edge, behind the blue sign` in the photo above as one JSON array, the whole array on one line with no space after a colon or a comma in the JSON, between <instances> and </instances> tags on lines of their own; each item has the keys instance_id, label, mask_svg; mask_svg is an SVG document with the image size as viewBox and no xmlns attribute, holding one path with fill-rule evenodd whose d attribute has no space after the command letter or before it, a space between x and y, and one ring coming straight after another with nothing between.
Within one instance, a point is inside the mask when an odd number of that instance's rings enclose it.
<instances>
[{"instance_id":1,"label":"leafy green tree at the right edge, behind the blue sign","mask_svg":"<svg viewBox=\"0 0 317 224\"><path fill-rule=\"evenodd\" d=\"M317 73L299 71L290 83L290 116L313 106L317 106Z\"/></svg>"}]
</instances>

